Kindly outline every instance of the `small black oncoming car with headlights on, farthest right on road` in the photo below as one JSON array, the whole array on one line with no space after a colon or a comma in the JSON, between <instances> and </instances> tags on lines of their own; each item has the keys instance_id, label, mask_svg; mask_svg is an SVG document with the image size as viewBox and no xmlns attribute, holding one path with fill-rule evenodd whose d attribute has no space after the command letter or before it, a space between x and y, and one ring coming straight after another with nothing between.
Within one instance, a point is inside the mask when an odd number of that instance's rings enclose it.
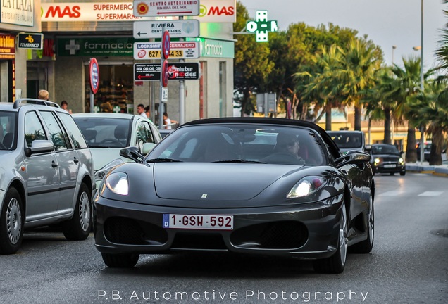
<instances>
[{"instance_id":1,"label":"small black oncoming car with headlights on, farthest right on road","mask_svg":"<svg viewBox=\"0 0 448 304\"><path fill-rule=\"evenodd\" d=\"M406 175L406 165L403 152L392 144L373 144L366 146L366 150L371 154L371 165L373 174L389 173L394 175Z\"/></svg>"}]
</instances>

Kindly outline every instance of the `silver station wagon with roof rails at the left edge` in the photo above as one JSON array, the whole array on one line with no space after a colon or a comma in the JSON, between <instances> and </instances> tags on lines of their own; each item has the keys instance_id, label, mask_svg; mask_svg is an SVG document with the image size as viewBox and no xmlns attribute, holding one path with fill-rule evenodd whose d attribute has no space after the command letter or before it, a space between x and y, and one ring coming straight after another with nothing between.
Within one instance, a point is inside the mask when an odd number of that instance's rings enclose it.
<instances>
[{"instance_id":1,"label":"silver station wagon with roof rails at the left edge","mask_svg":"<svg viewBox=\"0 0 448 304\"><path fill-rule=\"evenodd\" d=\"M0 103L0 160L0 254L18 251L25 228L61 223L66 239L87 239L94 165L68 112L38 99Z\"/></svg>"}]
</instances>

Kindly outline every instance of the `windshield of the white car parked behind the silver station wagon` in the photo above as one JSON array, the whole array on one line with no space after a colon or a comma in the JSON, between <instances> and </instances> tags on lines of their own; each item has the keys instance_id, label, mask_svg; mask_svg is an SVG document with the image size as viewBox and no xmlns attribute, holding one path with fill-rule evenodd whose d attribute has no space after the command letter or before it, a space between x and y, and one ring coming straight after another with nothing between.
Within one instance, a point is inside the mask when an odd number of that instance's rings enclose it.
<instances>
[{"instance_id":1,"label":"windshield of the white car parked behind the silver station wagon","mask_svg":"<svg viewBox=\"0 0 448 304\"><path fill-rule=\"evenodd\" d=\"M130 124L123 118L73 117L89 148L123 148L130 146Z\"/></svg>"}]
</instances>

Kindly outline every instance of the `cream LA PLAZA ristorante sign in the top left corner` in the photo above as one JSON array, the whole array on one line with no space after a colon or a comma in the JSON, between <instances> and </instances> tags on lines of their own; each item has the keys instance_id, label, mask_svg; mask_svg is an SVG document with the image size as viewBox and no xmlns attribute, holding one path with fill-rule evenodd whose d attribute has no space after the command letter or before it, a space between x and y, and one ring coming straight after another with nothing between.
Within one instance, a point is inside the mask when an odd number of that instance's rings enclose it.
<instances>
[{"instance_id":1,"label":"cream LA PLAZA ristorante sign in the top left corner","mask_svg":"<svg viewBox=\"0 0 448 304\"><path fill-rule=\"evenodd\" d=\"M1 0L0 22L34 26L34 0Z\"/></svg>"}]
</instances>

